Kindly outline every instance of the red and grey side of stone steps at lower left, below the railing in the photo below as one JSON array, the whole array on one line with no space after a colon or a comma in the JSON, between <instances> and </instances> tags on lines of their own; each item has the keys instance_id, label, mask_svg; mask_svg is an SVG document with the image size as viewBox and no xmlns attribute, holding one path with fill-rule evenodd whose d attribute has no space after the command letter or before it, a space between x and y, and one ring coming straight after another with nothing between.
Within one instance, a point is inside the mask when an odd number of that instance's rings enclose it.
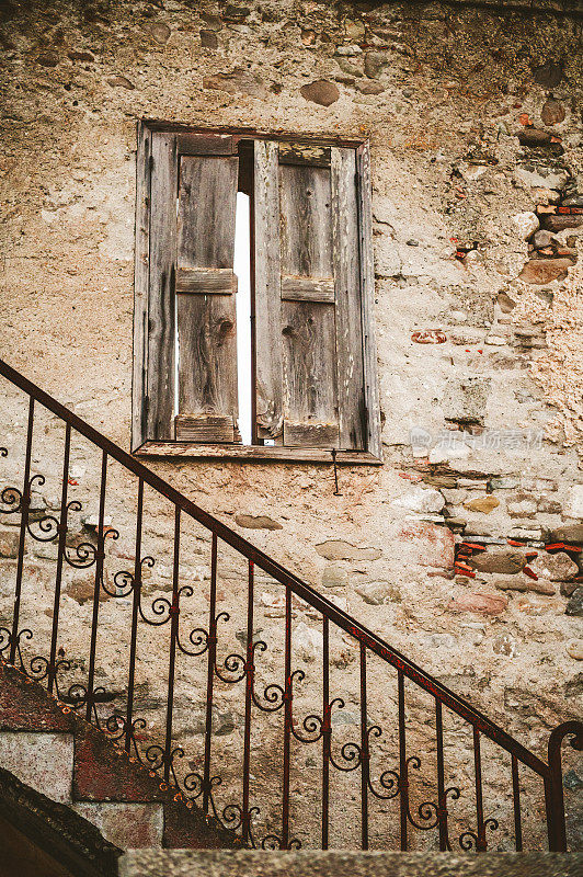
<instances>
[{"instance_id":1,"label":"red and grey side of stone steps at lower left, below the railing","mask_svg":"<svg viewBox=\"0 0 583 877\"><path fill-rule=\"evenodd\" d=\"M0 664L0 765L129 847L231 847L233 834L14 667Z\"/></svg>"}]
</instances>

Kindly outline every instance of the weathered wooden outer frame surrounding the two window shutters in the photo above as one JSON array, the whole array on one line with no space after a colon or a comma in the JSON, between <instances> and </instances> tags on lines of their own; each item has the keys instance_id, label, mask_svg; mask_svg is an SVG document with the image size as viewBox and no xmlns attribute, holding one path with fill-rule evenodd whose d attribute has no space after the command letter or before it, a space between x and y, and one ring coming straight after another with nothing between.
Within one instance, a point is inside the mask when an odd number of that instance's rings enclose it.
<instances>
[{"instance_id":1,"label":"weathered wooden outer frame surrounding the two window shutters","mask_svg":"<svg viewBox=\"0 0 583 877\"><path fill-rule=\"evenodd\" d=\"M361 314L363 328L364 398L366 406L366 451L277 445L201 444L184 441L156 441L147 437L146 399L150 272L150 168L153 132L168 134L233 135L241 139L278 140L307 146L336 146L355 149L358 197ZM370 152L367 140L327 136L272 134L251 128L194 127L158 121L140 121L137 126L136 238L134 280L134 353L132 384L132 448L140 457L164 459L232 459L271 463L332 462L345 465L381 465L380 409L377 354L374 333L375 274L373 261L373 218Z\"/></svg>"}]
</instances>

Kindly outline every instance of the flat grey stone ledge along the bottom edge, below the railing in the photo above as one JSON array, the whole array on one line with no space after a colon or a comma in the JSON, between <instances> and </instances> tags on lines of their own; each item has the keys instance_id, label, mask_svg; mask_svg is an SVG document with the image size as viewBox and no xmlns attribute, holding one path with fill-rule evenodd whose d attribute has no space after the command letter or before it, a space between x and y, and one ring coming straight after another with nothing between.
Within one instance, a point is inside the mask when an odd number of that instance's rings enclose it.
<instances>
[{"instance_id":1,"label":"flat grey stone ledge along the bottom edge, below the railing","mask_svg":"<svg viewBox=\"0 0 583 877\"><path fill-rule=\"evenodd\" d=\"M129 850L119 877L581 877L582 853Z\"/></svg>"}]
</instances>

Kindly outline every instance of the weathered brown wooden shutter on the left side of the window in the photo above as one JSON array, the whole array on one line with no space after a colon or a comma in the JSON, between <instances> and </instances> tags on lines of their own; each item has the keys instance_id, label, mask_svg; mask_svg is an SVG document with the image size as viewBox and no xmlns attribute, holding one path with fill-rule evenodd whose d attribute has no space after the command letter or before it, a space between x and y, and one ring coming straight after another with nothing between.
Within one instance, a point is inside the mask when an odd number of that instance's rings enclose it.
<instances>
[{"instance_id":1,"label":"weathered brown wooden shutter on the left side of the window","mask_svg":"<svg viewBox=\"0 0 583 877\"><path fill-rule=\"evenodd\" d=\"M237 181L232 137L152 133L147 438L238 435Z\"/></svg>"}]
</instances>

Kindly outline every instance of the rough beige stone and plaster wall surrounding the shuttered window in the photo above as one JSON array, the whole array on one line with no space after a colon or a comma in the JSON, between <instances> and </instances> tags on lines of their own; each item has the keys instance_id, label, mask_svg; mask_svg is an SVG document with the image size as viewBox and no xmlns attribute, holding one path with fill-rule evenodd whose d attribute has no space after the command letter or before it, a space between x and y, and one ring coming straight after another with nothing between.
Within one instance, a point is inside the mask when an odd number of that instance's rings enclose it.
<instances>
[{"instance_id":1,"label":"rough beige stone and plaster wall surrounding the shuttered window","mask_svg":"<svg viewBox=\"0 0 583 877\"><path fill-rule=\"evenodd\" d=\"M384 466L342 469L339 497L328 467L152 466L542 752L583 693L581 24L438 3L7 2L0 41L2 356L125 447L136 121L370 138ZM25 408L5 398L10 485ZM55 421L44 429L39 515L58 504L62 442ZM82 542L99 474L82 442L70 471ZM134 501L108 499L113 560L132 562ZM156 599L171 584L172 522L149 509ZM11 521L0 531L4 617ZM484 550L459 556L464 539ZM570 549L546 551L557 543ZM202 534L191 548L185 581L207 581ZM30 617L47 630L38 594L49 606L54 556L53 544L26 555ZM231 610L244 600L241 569L228 559ZM268 581L258 592L268 638L281 594ZM89 573L67 570L67 656L81 669L91 593ZM121 672L123 604L103 594L104 677ZM319 622L296 607L294 625L298 660L313 668ZM155 724L163 654L161 642L142 656L141 709ZM335 660L354 671L354 643ZM176 732L199 743L204 675L190 672ZM393 704L392 676L390 686ZM237 753L242 699L231 701L221 740Z\"/></svg>"}]
</instances>

